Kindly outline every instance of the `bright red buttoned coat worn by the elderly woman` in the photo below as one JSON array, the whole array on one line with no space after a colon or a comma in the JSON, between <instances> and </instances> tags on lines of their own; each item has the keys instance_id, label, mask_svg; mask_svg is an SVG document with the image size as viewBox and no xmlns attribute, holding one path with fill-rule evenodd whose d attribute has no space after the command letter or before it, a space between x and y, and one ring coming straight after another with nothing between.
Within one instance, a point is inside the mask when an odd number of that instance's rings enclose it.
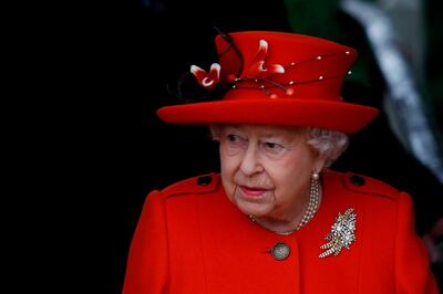
<instances>
[{"instance_id":1,"label":"bright red buttoned coat worn by the elderly woman","mask_svg":"<svg viewBox=\"0 0 443 294\"><path fill-rule=\"evenodd\" d=\"M151 192L123 293L437 293L409 195L351 172L326 171L322 187L320 210L290 235L251 222L216 174ZM356 242L319 259L336 217L348 208L357 214ZM277 242L290 246L288 259L272 258Z\"/></svg>"}]
</instances>

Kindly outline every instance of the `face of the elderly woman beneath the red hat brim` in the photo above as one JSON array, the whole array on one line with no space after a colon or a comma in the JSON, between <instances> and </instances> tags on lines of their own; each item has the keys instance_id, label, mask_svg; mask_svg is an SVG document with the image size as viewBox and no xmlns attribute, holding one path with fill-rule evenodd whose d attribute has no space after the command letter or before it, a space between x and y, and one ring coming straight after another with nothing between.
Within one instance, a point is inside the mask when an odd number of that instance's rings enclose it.
<instances>
[{"instance_id":1,"label":"face of the elderly woman beneath the red hat brim","mask_svg":"<svg viewBox=\"0 0 443 294\"><path fill-rule=\"evenodd\" d=\"M285 220L309 196L310 175L323 160L306 141L306 128L219 125L222 180L244 213Z\"/></svg>"}]
</instances>

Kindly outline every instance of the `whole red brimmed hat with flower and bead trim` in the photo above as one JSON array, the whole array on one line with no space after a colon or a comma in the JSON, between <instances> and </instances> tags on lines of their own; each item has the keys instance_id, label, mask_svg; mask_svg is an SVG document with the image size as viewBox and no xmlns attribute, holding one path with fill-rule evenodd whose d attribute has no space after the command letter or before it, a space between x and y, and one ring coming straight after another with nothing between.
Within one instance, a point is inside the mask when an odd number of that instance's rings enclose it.
<instances>
[{"instance_id":1,"label":"whole red brimmed hat with flower and bead trim","mask_svg":"<svg viewBox=\"0 0 443 294\"><path fill-rule=\"evenodd\" d=\"M165 106L171 124L270 124L360 130L378 109L347 103L340 95L357 51L315 36L284 32L220 33L219 63L210 71L193 65L206 91L225 88L217 101Z\"/></svg>"}]
</instances>

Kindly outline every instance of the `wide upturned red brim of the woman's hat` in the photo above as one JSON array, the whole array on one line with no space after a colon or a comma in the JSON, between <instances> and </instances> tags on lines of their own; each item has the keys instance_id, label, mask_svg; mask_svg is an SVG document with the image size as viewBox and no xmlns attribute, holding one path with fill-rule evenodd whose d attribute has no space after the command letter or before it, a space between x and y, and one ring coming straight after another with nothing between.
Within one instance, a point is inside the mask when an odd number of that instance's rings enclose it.
<instances>
[{"instance_id":1,"label":"wide upturned red brim of the woman's hat","mask_svg":"<svg viewBox=\"0 0 443 294\"><path fill-rule=\"evenodd\" d=\"M169 124L267 124L359 132L377 115L377 108L318 99L233 99L165 106L157 115Z\"/></svg>"}]
</instances>

